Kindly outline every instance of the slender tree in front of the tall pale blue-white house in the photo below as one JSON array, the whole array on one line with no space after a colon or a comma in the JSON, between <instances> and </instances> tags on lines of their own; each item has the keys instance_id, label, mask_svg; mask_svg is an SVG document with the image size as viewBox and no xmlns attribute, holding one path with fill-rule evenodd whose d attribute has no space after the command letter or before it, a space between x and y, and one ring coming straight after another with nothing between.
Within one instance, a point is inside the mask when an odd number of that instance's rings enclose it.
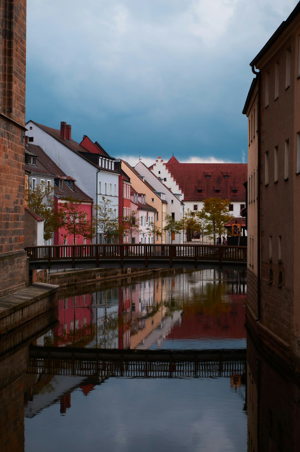
<instances>
[{"instance_id":1,"label":"slender tree in front of the tall pale blue-white house","mask_svg":"<svg viewBox=\"0 0 300 452\"><path fill-rule=\"evenodd\" d=\"M119 219L115 215L116 206L112 201L102 196L102 201L95 208L97 229L103 232L106 243L107 235L121 235L122 226L119 224Z\"/></svg>"}]
</instances>

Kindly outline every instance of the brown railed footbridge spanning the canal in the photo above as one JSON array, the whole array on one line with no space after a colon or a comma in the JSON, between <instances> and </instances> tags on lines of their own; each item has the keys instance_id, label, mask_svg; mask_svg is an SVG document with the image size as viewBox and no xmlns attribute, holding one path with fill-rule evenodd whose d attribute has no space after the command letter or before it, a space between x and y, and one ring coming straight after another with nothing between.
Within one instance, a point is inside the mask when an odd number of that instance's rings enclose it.
<instances>
[{"instance_id":1,"label":"brown railed footbridge spanning the canal","mask_svg":"<svg viewBox=\"0 0 300 452\"><path fill-rule=\"evenodd\" d=\"M102 244L29 246L30 270L42 268L246 269L247 247L227 245Z\"/></svg>"}]
</instances>

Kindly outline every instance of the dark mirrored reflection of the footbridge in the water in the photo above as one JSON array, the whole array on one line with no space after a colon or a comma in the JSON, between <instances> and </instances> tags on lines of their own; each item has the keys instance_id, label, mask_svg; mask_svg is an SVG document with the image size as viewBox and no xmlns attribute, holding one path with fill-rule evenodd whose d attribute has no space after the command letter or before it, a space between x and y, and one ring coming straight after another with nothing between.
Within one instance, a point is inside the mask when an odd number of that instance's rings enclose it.
<instances>
[{"instance_id":1,"label":"dark mirrored reflection of the footbridge in the water","mask_svg":"<svg viewBox=\"0 0 300 452\"><path fill-rule=\"evenodd\" d=\"M239 377L246 350L97 350L36 347L29 350L27 372L83 377Z\"/></svg>"}]
</instances>

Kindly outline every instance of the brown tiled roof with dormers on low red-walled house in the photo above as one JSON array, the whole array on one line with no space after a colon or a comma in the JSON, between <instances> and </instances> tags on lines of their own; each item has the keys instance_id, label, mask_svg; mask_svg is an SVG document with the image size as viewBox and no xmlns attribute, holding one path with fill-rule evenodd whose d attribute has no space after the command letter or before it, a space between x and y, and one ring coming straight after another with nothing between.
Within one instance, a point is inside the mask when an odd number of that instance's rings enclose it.
<instances>
[{"instance_id":1,"label":"brown tiled roof with dormers on low red-walled house","mask_svg":"<svg viewBox=\"0 0 300 452\"><path fill-rule=\"evenodd\" d=\"M27 145L26 145L27 146ZM74 199L79 199L81 202L93 202L92 198L90 198L86 193L84 193L76 184L74 184L74 191L66 184L67 180L75 180L70 176L67 176L64 171L60 169L59 166L54 163L53 160L42 150L40 146L36 145L28 145L28 150L34 155L37 156L38 163L38 174L50 175L55 179L62 179L62 187L60 190L56 185L54 185L54 194L56 198L66 198L71 197ZM26 166L26 165L25 165ZM29 171L32 171L32 165L27 165L29 167Z\"/></svg>"}]
</instances>

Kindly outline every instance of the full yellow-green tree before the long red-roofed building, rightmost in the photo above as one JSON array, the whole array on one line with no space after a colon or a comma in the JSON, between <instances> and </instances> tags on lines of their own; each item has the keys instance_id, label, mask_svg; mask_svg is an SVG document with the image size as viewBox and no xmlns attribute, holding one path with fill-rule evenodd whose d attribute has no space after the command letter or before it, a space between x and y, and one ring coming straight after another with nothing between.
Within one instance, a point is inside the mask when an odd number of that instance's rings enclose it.
<instances>
[{"instance_id":1,"label":"full yellow-green tree before the long red-roofed building, rightmost","mask_svg":"<svg viewBox=\"0 0 300 452\"><path fill-rule=\"evenodd\" d=\"M203 212L209 214L209 221L212 225L213 243L216 245L216 233L222 236L224 225L233 218L228 213L231 202L229 199L207 198L203 201Z\"/></svg>"}]
</instances>

